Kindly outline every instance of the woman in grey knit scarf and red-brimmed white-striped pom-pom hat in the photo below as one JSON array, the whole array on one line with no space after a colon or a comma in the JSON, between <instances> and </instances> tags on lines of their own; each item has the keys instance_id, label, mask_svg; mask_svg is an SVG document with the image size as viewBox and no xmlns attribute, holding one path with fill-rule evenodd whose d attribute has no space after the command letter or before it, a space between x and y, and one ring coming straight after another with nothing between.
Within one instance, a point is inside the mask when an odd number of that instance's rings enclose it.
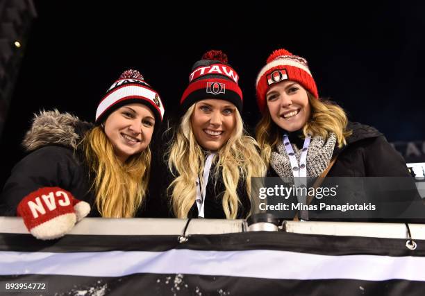
<instances>
[{"instance_id":1,"label":"woman in grey knit scarf and red-brimmed white-striped pom-pom hat","mask_svg":"<svg viewBox=\"0 0 425 296\"><path fill-rule=\"evenodd\" d=\"M279 176L285 182L325 175L410 176L403 158L381 132L349 122L341 107L319 98L304 58L285 49L274 51L258 73L256 93L263 113L256 138L269 176ZM413 180L403 180L411 193L405 200L397 200L404 209L410 200L417 200L417 192Z\"/></svg>"}]
</instances>

